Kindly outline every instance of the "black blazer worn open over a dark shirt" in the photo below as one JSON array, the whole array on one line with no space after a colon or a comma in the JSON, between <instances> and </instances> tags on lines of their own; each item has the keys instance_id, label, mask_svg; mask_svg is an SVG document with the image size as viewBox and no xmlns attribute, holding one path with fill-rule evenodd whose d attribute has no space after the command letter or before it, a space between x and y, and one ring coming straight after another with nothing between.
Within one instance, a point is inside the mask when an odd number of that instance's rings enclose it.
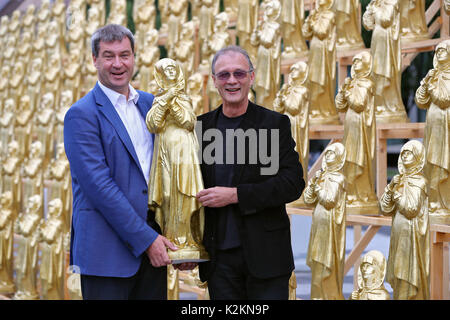
<instances>
[{"instance_id":1,"label":"black blazer worn open over a dark shirt","mask_svg":"<svg viewBox=\"0 0 450 320\"><path fill-rule=\"evenodd\" d=\"M217 118L222 106L198 117L197 134L203 134L210 128L216 128ZM259 140L264 138L259 129L278 129L279 132L279 169L273 175L261 174L263 165L257 157L256 164L249 164L249 144L246 143L246 162L237 164L232 186L237 187L238 210L236 220L248 267L257 278L272 278L287 275L294 269L291 246L290 221L286 213L286 203L297 200L305 187L299 155L295 151L295 141L291 135L289 118L278 112L249 102L239 128L256 129ZM270 133L267 134L270 154ZM225 141L225 139L224 139ZM210 142L203 141L201 150ZM269 157L272 157L270 155ZM215 186L214 164L201 163L204 186ZM207 281L215 267L217 250L217 220L215 208L205 208L205 231L203 244L210 254L209 262L200 263L200 278Z\"/></svg>"}]
</instances>

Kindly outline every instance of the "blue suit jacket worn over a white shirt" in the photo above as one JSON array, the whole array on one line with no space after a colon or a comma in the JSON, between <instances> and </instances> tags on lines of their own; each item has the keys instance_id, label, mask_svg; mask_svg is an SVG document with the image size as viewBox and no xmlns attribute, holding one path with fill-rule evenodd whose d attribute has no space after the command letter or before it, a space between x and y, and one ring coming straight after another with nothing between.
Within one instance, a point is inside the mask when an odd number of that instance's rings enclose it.
<instances>
[{"instance_id":1,"label":"blue suit jacket worn over a white shirt","mask_svg":"<svg viewBox=\"0 0 450 320\"><path fill-rule=\"evenodd\" d=\"M153 95L138 92L145 119ZM134 275L158 234L146 222L148 186L133 144L98 84L67 112L64 146L73 189L71 265L85 275Z\"/></svg>"}]
</instances>

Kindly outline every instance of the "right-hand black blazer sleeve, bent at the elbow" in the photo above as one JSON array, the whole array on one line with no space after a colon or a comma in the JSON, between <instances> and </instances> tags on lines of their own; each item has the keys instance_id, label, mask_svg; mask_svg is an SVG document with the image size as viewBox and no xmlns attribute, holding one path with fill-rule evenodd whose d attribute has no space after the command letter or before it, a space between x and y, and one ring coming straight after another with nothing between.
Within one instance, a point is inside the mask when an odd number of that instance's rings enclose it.
<instances>
[{"instance_id":1,"label":"right-hand black blazer sleeve, bent at the elbow","mask_svg":"<svg viewBox=\"0 0 450 320\"><path fill-rule=\"evenodd\" d=\"M287 116L281 117L278 129L278 171L262 182L237 186L238 203L244 215L297 200L305 187L302 166L295 151L295 141Z\"/></svg>"}]
</instances>

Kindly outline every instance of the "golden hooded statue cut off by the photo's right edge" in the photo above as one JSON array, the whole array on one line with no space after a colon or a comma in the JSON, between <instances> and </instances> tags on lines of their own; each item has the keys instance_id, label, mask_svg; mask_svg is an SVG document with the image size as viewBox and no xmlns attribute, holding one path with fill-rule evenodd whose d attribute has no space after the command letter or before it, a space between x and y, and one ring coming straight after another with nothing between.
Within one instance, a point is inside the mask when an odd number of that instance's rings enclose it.
<instances>
[{"instance_id":1,"label":"golden hooded statue cut off by the photo's right edge","mask_svg":"<svg viewBox=\"0 0 450 320\"><path fill-rule=\"evenodd\" d=\"M430 219L450 224L450 40L436 47L434 68L420 82L416 103L428 109L424 145Z\"/></svg>"}]
</instances>

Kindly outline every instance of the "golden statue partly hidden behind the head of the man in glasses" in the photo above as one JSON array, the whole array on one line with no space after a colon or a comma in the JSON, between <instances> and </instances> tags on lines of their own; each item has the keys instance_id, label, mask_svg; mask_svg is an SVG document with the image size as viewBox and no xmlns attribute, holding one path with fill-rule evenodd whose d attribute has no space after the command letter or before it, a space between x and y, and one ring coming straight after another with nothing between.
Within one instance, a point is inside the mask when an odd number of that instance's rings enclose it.
<instances>
[{"instance_id":1,"label":"golden statue partly hidden behind the head of the man in glasses","mask_svg":"<svg viewBox=\"0 0 450 320\"><path fill-rule=\"evenodd\" d=\"M229 45L231 45L231 37L228 33L228 14L226 12L221 12L215 17L214 33L209 41L203 43L204 48L202 51L209 63L208 69L211 66L212 59L216 52ZM222 103L222 98L220 97L219 92L217 92L212 77L208 77L206 90L208 92L210 109L217 108Z\"/></svg>"}]
</instances>

